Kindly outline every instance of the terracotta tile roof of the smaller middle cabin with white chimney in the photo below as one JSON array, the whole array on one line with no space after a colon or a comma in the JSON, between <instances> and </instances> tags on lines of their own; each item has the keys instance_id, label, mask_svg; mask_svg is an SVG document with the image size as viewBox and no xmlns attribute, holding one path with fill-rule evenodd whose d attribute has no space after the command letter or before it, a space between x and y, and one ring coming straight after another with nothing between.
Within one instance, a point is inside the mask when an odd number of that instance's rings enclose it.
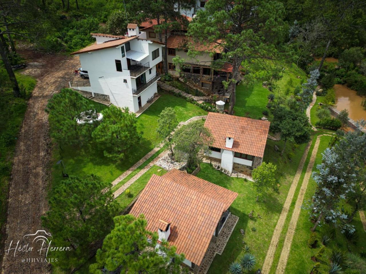
<instances>
[{"instance_id":1,"label":"terracotta tile roof of the smaller middle cabin with white chimney","mask_svg":"<svg viewBox=\"0 0 366 274\"><path fill-rule=\"evenodd\" d=\"M269 121L209 112L205 121L215 141L212 146L253 156L263 157ZM225 147L227 132L233 132L232 148Z\"/></svg>"}]
</instances>

